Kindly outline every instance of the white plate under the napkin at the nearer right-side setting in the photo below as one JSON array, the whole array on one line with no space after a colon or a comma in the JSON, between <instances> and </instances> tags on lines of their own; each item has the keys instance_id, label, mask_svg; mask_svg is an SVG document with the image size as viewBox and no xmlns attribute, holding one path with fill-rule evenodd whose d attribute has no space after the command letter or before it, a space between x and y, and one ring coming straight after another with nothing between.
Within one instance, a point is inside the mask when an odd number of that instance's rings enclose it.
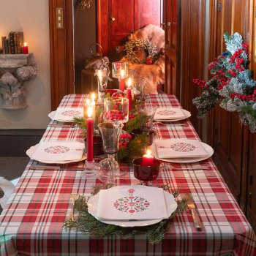
<instances>
[{"instance_id":1,"label":"white plate under the napkin at the nearer right-side setting","mask_svg":"<svg viewBox=\"0 0 256 256\"><path fill-rule=\"evenodd\" d=\"M178 163L188 163L188 162L199 162L199 161L203 161L205 159L208 159L209 157L211 157L214 154L214 149L211 148L211 146L209 146L206 143L201 142L203 148L206 150L208 156L207 157L181 157L181 158L159 158L158 154L157 154L157 148L155 146L155 143L153 143L149 148L151 149L151 154L152 156L154 156L155 158L161 160L161 161L165 161L165 162L178 162Z\"/></svg>"}]
</instances>

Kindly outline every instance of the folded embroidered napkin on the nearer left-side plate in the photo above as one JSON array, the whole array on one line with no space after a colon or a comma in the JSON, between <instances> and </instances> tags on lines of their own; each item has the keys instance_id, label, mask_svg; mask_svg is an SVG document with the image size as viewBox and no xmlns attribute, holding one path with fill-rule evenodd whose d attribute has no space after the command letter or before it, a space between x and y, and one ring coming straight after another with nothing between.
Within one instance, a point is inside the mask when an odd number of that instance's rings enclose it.
<instances>
[{"instance_id":1,"label":"folded embroidered napkin on the nearer left-side plate","mask_svg":"<svg viewBox=\"0 0 256 256\"><path fill-rule=\"evenodd\" d=\"M84 143L79 142L41 142L31 159L42 161L80 160L83 156Z\"/></svg>"}]
</instances>

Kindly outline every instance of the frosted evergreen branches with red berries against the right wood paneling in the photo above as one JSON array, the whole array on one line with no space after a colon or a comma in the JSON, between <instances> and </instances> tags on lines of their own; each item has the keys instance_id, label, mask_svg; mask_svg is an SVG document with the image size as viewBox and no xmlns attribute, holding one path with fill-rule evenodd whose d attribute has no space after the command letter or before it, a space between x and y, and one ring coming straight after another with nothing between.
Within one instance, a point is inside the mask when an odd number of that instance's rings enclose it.
<instances>
[{"instance_id":1,"label":"frosted evergreen branches with red berries against the right wood paneling","mask_svg":"<svg viewBox=\"0 0 256 256\"><path fill-rule=\"evenodd\" d=\"M214 75L207 83L199 78L193 82L201 86L203 93L193 99L193 104L203 116L220 103L221 108L237 112L242 124L256 132L256 89L252 72L248 69L248 45L240 34L224 34L227 50L208 65Z\"/></svg>"}]
</instances>

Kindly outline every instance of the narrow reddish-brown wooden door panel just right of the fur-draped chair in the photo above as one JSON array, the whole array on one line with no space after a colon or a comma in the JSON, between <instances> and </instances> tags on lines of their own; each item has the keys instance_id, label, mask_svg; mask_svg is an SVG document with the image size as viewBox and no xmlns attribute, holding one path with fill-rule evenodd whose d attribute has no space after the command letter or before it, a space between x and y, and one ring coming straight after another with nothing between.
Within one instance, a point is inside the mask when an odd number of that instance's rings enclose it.
<instances>
[{"instance_id":1,"label":"narrow reddish-brown wooden door panel just right of the fur-draped chair","mask_svg":"<svg viewBox=\"0 0 256 256\"><path fill-rule=\"evenodd\" d=\"M178 0L165 0L165 92L177 95Z\"/></svg>"}]
</instances>

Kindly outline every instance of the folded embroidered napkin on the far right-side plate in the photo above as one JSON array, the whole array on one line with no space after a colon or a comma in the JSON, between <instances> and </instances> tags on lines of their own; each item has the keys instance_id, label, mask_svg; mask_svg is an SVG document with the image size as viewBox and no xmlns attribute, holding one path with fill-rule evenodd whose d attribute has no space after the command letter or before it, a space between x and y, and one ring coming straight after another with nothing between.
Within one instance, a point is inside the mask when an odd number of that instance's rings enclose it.
<instances>
[{"instance_id":1,"label":"folded embroidered napkin on the far right-side plate","mask_svg":"<svg viewBox=\"0 0 256 256\"><path fill-rule=\"evenodd\" d=\"M177 118L186 118L181 108L157 108L154 119L171 120Z\"/></svg>"}]
</instances>

